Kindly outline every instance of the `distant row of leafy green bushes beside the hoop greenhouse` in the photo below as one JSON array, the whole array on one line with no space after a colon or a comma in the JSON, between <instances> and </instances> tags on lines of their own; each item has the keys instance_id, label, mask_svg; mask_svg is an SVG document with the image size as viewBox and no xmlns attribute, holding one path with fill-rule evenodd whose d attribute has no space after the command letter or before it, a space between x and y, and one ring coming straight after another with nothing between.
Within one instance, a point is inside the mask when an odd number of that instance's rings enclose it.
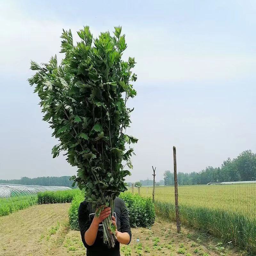
<instances>
[{"instance_id":1,"label":"distant row of leafy green bushes beside the hoop greenhouse","mask_svg":"<svg viewBox=\"0 0 256 256\"><path fill-rule=\"evenodd\" d=\"M71 203L74 196L81 193L79 189L70 189L64 191L45 191L37 193L38 204L62 204Z\"/></svg>"}]
</instances>

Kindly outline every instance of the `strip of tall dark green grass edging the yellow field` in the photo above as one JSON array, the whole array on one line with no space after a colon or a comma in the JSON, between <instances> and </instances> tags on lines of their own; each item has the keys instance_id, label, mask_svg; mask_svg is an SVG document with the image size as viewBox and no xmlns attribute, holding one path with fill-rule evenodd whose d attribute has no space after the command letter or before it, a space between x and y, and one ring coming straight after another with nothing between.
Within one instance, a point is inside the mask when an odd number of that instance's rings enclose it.
<instances>
[{"instance_id":1,"label":"strip of tall dark green grass edging the yellow field","mask_svg":"<svg viewBox=\"0 0 256 256\"><path fill-rule=\"evenodd\" d=\"M175 204L155 201L156 214L175 221ZM256 253L256 220L239 213L179 204L182 224ZM253 254L255 255L255 254Z\"/></svg>"}]
</instances>

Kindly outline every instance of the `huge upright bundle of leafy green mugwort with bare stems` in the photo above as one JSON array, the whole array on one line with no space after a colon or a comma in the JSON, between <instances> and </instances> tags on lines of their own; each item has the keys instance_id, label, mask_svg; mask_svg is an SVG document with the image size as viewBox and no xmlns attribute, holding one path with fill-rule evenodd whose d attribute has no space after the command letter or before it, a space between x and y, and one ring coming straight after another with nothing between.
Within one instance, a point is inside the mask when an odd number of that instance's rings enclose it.
<instances>
[{"instance_id":1,"label":"huge upright bundle of leafy green mugwort with bare stems","mask_svg":"<svg viewBox=\"0 0 256 256\"><path fill-rule=\"evenodd\" d=\"M132 82L137 76L132 73L134 58L121 59L127 47L121 29L93 39L86 26L77 32L82 40L76 44L71 31L63 30L61 64L56 56L41 66L31 61L36 74L28 79L35 84L43 120L60 142L52 148L53 157L64 151L68 163L78 167L71 179L98 208L98 216L102 205L110 206L113 214L116 196L126 190L124 178L130 175L134 154L130 144L137 142L125 134L133 111L126 103L136 95ZM116 237L108 228L115 231L111 216L103 221L103 230L104 242L113 247Z\"/></svg>"}]
</instances>

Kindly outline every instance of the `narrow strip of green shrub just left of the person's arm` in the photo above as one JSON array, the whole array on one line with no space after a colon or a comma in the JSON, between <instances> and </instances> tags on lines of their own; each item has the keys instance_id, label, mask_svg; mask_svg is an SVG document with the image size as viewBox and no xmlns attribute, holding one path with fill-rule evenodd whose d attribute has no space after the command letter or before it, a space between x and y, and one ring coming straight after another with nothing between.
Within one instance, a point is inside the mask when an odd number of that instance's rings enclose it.
<instances>
[{"instance_id":1,"label":"narrow strip of green shrub just left of the person's arm","mask_svg":"<svg viewBox=\"0 0 256 256\"><path fill-rule=\"evenodd\" d=\"M72 200L71 206L68 211L68 219L71 229L79 230L78 224L78 208L81 202L84 201L82 192L76 194Z\"/></svg>"}]
</instances>

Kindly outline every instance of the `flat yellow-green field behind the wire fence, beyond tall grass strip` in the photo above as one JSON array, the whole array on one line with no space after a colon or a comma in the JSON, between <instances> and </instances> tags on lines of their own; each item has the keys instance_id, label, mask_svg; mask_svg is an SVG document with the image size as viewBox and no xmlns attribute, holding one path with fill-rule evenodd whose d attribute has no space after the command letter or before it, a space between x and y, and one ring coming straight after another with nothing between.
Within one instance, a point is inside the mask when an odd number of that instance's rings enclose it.
<instances>
[{"instance_id":1,"label":"flat yellow-green field behind the wire fence, beyond tall grass strip","mask_svg":"<svg viewBox=\"0 0 256 256\"><path fill-rule=\"evenodd\" d=\"M129 188L131 192L132 189ZM141 187L141 196L152 197L153 187ZM134 193L138 189L134 188ZM179 186L179 204L186 206L220 209L256 217L256 184L237 185L192 185ZM174 186L155 188L155 199L160 202L174 202Z\"/></svg>"}]
</instances>

